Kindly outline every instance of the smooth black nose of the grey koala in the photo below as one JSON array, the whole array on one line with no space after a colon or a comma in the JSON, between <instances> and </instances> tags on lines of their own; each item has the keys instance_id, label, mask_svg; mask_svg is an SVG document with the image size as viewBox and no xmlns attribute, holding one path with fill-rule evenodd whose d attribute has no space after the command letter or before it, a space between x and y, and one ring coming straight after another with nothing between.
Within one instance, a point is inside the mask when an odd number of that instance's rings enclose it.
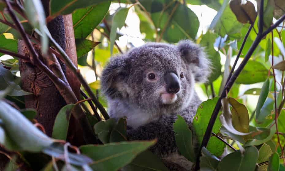
<instances>
[{"instance_id":1,"label":"smooth black nose of the grey koala","mask_svg":"<svg viewBox=\"0 0 285 171\"><path fill-rule=\"evenodd\" d=\"M179 78L173 72L167 73L164 76L166 83L166 92L167 93L178 93L180 90Z\"/></svg>"}]
</instances>

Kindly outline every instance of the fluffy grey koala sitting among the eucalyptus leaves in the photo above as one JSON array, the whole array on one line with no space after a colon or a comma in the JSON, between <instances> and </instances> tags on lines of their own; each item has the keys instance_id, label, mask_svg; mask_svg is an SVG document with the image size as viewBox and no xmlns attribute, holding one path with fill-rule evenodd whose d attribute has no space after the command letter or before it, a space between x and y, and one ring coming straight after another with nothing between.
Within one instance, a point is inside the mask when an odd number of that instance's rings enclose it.
<instances>
[{"instance_id":1,"label":"fluffy grey koala sitting among the eucalyptus leaves","mask_svg":"<svg viewBox=\"0 0 285 171\"><path fill-rule=\"evenodd\" d=\"M207 81L210 61L190 40L177 45L147 43L110 59L101 74L101 89L111 117L127 117L130 140L158 139L150 150L170 170L191 169L179 155L173 123L177 114L192 124L201 101L195 83Z\"/></svg>"}]
</instances>

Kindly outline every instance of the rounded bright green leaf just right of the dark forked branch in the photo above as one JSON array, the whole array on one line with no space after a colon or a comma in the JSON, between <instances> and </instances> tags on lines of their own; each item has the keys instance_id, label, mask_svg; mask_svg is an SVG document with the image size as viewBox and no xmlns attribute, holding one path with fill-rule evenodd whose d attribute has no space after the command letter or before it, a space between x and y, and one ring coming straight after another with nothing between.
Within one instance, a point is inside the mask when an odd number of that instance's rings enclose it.
<instances>
[{"instance_id":1,"label":"rounded bright green leaf just right of the dark forked branch","mask_svg":"<svg viewBox=\"0 0 285 171\"><path fill-rule=\"evenodd\" d=\"M267 78L268 69L260 62L248 61L236 79L237 84L253 84L264 82Z\"/></svg>"}]
</instances>

